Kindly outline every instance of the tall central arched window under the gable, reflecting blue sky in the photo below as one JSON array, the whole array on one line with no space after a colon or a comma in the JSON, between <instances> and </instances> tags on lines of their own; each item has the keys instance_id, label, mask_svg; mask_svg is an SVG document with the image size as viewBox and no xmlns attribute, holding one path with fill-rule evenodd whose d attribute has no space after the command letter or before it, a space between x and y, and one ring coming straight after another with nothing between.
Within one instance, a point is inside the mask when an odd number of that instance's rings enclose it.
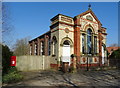
<instances>
[{"instance_id":1,"label":"tall central arched window under the gable, reflecting blue sky","mask_svg":"<svg viewBox=\"0 0 120 88\"><path fill-rule=\"evenodd\" d=\"M90 28L87 30L87 53L92 54L92 31Z\"/></svg>"}]
</instances>

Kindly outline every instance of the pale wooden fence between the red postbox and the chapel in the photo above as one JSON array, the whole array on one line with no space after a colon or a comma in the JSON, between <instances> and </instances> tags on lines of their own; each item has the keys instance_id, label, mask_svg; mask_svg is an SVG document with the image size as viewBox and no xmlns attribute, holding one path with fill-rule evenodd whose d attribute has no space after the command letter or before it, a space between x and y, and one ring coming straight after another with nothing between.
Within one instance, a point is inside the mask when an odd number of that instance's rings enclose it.
<instances>
[{"instance_id":1,"label":"pale wooden fence between the red postbox and the chapel","mask_svg":"<svg viewBox=\"0 0 120 88\"><path fill-rule=\"evenodd\" d=\"M50 68L50 56L17 56L19 71L45 70Z\"/></svg>"}]
</instances>

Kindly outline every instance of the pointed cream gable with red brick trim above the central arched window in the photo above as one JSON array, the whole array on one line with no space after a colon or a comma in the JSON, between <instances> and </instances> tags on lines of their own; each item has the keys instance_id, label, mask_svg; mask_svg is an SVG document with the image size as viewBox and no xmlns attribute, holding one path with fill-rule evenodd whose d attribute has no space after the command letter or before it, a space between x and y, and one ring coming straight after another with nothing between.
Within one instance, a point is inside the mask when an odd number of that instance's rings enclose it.
<instances>
[{"instance_id":1,"label":"pointed cream gable with red brick trim above the central arched window","mask_svg":"<svg viewBox=\"0 0 120 88\"><path fill-rule=\"evenodd\" d=\"M81 24L81 31L86 31L87 27L90 25L94 30L94 33L98 33L99 25L101 25L101 23L92 10L87 10L76 17L79 19L79 23Z\"/></svg>"}]
</instances>

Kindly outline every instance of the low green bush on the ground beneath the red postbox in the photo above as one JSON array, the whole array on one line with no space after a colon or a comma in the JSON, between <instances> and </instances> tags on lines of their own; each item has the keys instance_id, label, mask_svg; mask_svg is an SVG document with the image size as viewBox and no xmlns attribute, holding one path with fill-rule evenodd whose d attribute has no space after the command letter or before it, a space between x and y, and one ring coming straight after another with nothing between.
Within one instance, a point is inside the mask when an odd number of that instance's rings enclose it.
<instances>
[{"instance_id":1,"label":"low green bush on the ground beneath the red postbox","mask_svg":"<svg viewBox=\"0 0 120 88\"><path fill-rule=\"evenodd\" d=\"M16 67L11 67L8 74L3 76L3 83L15 83L23 79L23 76L18 73Z\"/></svg>"}]
</instances>

